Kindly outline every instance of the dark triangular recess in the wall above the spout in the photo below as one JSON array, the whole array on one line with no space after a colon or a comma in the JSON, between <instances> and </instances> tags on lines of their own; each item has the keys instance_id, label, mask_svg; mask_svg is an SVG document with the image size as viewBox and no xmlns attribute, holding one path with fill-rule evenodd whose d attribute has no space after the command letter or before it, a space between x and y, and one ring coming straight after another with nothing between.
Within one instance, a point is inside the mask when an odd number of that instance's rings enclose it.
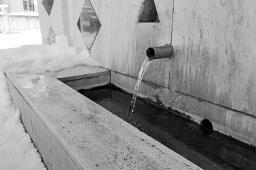
<instances>
[{"instance_id":1,"label":"dark triangular recess in the wall above the spout","mask_svg":"<svg viewBox=\"0 0 256 170\"><path fill-rule=\"evenodd\" d=\"M154 0L144 0L138 22L160 22Z\"/></svg>"}]
</instances>

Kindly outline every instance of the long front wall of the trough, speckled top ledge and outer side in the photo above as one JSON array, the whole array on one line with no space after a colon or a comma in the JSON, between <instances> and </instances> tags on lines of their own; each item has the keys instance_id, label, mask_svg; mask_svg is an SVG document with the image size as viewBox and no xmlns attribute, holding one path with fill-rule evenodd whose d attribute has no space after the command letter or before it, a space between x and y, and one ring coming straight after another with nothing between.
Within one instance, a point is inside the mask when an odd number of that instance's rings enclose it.
<instances>
[{"instance_id":1,"label":"long front wall of the trough, speckled top ledge and outer side","mask_svg":"<svg viewBox=\"0 0 256 170\"><path fill-rule=\"evenodd\" d=\"M54 77L7 78L48 170L200 170Z\"/></svg>"}]
</instances>

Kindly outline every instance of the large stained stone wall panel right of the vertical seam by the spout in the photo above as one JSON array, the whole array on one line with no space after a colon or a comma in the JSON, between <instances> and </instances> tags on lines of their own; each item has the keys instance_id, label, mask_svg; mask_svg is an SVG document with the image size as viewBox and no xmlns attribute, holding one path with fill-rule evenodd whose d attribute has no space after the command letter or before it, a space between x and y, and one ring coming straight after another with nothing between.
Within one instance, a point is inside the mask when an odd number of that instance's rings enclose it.
<instances>
[{"instance_id":1,"label":"large stained stone wall panel right of the vertical seam by the spout","mask_svg":"<svg viewBox=\"0 0 256 170\"><path fill-rule=\"evenodd\" d=\"M174 5L170 88L256 115L255 0Z\"/></svg>"}]
</instances>

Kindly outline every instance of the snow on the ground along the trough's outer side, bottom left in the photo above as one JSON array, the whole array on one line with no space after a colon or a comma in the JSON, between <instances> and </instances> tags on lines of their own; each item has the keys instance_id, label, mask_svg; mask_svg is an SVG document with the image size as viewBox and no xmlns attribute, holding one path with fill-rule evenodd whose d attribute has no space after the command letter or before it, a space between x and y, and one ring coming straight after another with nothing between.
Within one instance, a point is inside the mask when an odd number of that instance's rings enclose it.
<instances>
[{"instance_id":1,"label":"snow on the ground along the trough's outer side, bottom left","mask_svg":"<svg viewBox=\"0 0 256 170\"><path fill-rule=\"evenodd\" d=\"M46 170L37 149L20 122L20 111L11 102L0 72L0 170Z\"/></svg>"}]
</instances>

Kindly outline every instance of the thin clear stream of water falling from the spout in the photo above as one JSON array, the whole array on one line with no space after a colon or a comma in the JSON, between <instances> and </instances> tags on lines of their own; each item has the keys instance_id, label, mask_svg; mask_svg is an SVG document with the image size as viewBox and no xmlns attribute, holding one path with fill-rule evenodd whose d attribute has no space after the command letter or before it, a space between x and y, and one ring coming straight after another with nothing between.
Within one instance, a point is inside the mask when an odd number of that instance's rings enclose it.
<instances>
[{"instance_id":1,"label":"thin clear stream of water falling from the spout","mask_svg":"<svg viewBox=\"0 0 256 170\"><path fill-rule=\"evenodd\" d=\"M140 82L142 80L142 77L143 77L144 73L146 72L146 70L147 70L147 68L148 68L148 66L150 65L151 62L152 62L152 59L146 57L145 60L143 61L142 65L141 65L140 70L139 70L138 80L137 80L136 85L134 87L132 102L130 103L129 114L128 114L128 117L127 117L128 121L131 120L132 115L133 115L133 109L134 109L136 98L137 98L139 84L140 84Z\"/></svg>"}]
</instances>

